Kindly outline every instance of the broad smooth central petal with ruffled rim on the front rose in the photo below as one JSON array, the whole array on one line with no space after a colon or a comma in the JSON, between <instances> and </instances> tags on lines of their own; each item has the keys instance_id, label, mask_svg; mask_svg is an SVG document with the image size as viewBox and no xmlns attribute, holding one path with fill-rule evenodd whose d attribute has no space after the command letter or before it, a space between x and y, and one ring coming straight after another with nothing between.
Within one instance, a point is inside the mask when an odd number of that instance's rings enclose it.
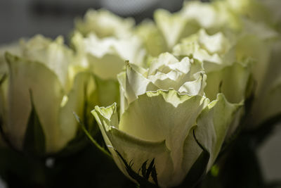
<instances>
[{"instance_id":1,"label":"broad smooth central petal with ruffled rim on the front rose","mask_svg":"<svg viewBox=\"0 0 281 188\"><path fill-rule=\"evenodd\" d=\"M185 138L205 102L202 96L179 95L174 90L146 92L123 113L119 130L151 142L166 140L174 163L170 184L176 185L187 173L181 165Z\"/></svg>"}]
</instances>

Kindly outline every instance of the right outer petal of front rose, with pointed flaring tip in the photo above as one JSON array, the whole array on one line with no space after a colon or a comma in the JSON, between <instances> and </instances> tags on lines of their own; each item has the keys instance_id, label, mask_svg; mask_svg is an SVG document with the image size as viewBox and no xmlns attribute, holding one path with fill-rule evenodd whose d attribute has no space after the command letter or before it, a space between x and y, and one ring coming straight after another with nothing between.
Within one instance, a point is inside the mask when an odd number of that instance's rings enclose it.
<instances>
[{"instance_id":1,"label":"right outer petal of front rose, with pointed flaring tip","mask_svg":"<svg viewBox=\"0 0 281 188\"><path fill-rule=\"evenodd\" d=\"M211 153L207 170L216 160L233 118L241 107L242 104L230 104L223 94L218 94L217 99L204 108L197 119L195 136Z\"/></svg>"}]
</instances>

